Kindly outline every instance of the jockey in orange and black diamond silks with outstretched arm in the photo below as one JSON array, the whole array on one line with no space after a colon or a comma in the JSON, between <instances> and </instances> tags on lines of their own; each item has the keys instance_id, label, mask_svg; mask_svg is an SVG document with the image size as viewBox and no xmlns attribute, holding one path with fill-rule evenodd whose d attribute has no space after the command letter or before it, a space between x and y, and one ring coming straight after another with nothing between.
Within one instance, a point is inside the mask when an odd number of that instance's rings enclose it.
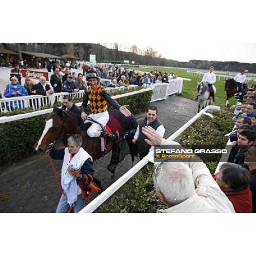
<instances>
[{"instance_id":1,"label":"jockey in orange and black diamond silks with outstretched arm","mask_svg":"<svg viewBox=\"0 0 256 256\"><path fill-rule=\"evenodd\" d=\"M125 116L131 116L131 112L126 108L128 105L121 107L114 99L112 99L106 90L104 90L104 87L99 84L99 80L100 78L94 70L90 70L86 74L88 87L84 91L84 99L81 105L81 117L85 121L81 128L87 131L89 137L107 137L114 140L115 135L102 131L102 128L105 127L109 120L107 103L114 109L119 109ZM89 116L85 113L88 101L90 102L91 112ZM93 124L90 125L91 123Z\"/></svg>"}]
</instances>

